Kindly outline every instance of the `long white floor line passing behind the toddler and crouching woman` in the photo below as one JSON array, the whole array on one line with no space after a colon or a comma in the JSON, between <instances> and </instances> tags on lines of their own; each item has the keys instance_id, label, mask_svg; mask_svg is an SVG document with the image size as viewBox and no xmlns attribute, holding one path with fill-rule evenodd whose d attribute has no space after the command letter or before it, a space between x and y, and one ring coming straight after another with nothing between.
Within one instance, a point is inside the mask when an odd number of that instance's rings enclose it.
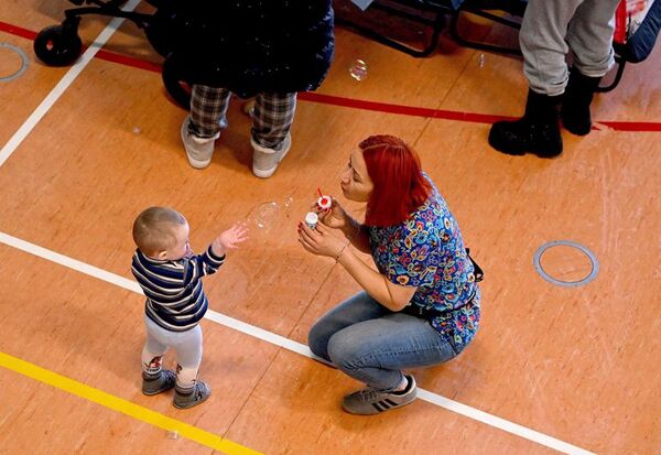
<instances>
[{"instance_id":1,"label":"long white floor line passing behind the toddler and crouching woman","mask_svg":"<svg viewBox=\"0 0 661 455\"><path fill-rule=\"evenodd\" d=\"M8 245L10 247L17 248L21 251L25 251L30 254L37 256L42 259L48 260L51 262L58 263L68 269L75 270L80 273L85 273L89 277L106 281L110 284L115 284L117 286L123 288L126 290L142 294L142 289L133 280L129 280L121 275L110 273L106 270L99 269L94 266L89 266L85 262L80 262L76 259L72 259L64 254L59 254L55 251L47 250L37 245L30 243L25 240L21 240L17 237L12 237L8 234L0 232L0 242ZM242 321L235 319L234 317L226 316L221 313L215 312L213 310L208 310L206 315L204 316L206 319L215 322L217 324L224 325L237 332L241 332L243 334L250 335L252 337L262 339L264 342L271 343L275 346L283 347L285 349L292 350L294 353L301 354L302 356L306 356L310 358L315 358L313 354L310 351L308 347L304 344L291 340L283 336L277 335L272 332L264 331L263 328L247 324ZM584 448L577 447L564 441L557 440L555 437L549 436L546 434L540 433L532 429L529 429L523 425L519 425L518 423L510 422L508 420L498 418L496 415L489 414L487 412L480 411L478 409L472 408L469 405L459 403L458 401L449 400L440 394L429 392L423 389L419 389L419 398L425 401L429 401L432 404L436 404L441 408L445 408L452 412L456 412L457 414L465 415L469 419L476 420L481 423L486 423L487 425L494 426L496 429L500 429L505 432L514 434L517 436L523 437L525 440L532 441L534 443L544 445L550 448L554 448L559 452L572 455L595 455L593 452L588 452Z\"/></svg>"}]
</instances>

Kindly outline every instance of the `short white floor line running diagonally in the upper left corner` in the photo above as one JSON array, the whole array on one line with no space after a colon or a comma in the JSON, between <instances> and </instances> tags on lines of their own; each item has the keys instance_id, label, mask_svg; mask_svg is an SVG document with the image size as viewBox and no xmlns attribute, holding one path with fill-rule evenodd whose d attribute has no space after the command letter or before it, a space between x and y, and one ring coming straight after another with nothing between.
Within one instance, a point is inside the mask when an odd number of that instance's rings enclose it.
<instances>
[{"instance_id":1,"label":"short white floor line running diagonally in the upper left corner","mask_svg":"<svg viewBox=\"0 0 661 455\"><path fill-rule=\"evenodd\" d=\"M133 11L138 3L141 0L131 0L128 2L123 11ZM0 166L4 164L4 162L11 156L11 154L17 150L17 148L25 140L28 134L34 129L36 123L41 121L41 119L46 115L48 110L53 107L55 101L59 99L62 94L72 85L72 83L78 77L80 72L85 69L89 61L94 58L97 52L110 40L110 36L119 29L119 26L124 21L123 18L115 18L112 19L108 25L99 33L97 39L87 47L85 53L78 61L71 67L71 69L64 75L62 79L57 83L57 85L51 90L51 93L44 98L44 100L34 109L34 111L28 117L28 120L19 128L19 130L9 139L9 142L4 144L2 150L0 150Z\"/></svg>"}]
</instances>

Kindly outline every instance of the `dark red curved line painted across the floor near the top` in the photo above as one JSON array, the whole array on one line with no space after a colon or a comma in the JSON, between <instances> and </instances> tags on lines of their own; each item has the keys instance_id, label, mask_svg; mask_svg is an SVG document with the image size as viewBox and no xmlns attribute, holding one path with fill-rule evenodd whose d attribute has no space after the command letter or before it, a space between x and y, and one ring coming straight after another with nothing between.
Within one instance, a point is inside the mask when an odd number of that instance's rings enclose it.
<instances>
[{"instance_id":1,"label":"dark red curved line painted across the floor near the top","mask_svg":"<svg viewBox=\"0 0 661 455\"><path fill-rule=\"evenodd\" d=\"M17 36L22 36L29 40L34 40L36 33L17 25L0 21L0 31L11 33ZM113 62L121 65L131 66L134 68L151 71L154 73L161 72L161 65L143 61L140 58L129 57L127 55L117 54L115 52L100 50L96 57L107 62ZM413 116L444 120L457 120L473 123L494 123L498 120L511 120L513 117L496 116L490 113L462 112L455 110L430 109L415 106L392 105L388 102L368 101L364 99L344 98L335 95L324 95L315 91L305 91L299 94L299 99L319 102L324 105L342 106L353 109L364 109L377 112L395 113L401 116ZM661 131L661 122L652 121L599 121L602 126L606 126L616 131L637 131L652 132Z\"/></svg>"}]
</instances>

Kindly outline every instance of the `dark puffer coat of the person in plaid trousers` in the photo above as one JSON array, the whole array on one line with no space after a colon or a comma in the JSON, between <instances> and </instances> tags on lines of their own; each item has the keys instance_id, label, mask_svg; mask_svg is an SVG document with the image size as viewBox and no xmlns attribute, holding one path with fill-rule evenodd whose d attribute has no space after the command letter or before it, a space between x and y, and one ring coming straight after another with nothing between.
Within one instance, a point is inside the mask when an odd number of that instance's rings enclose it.
<instances>
[{"instance_id":1,"label":"dark puffer coat of the person in plaid trousers","mask_svg":"<svg viewBox=\"0 0 661 455\"><path fill-rule=\"evenodd\" d=\"M174 53L189 83L247 98L259 91L314 90L328 72L335 46L332 0L175 4L182 10L171 17Z\"/></svg>"}]
</instances>

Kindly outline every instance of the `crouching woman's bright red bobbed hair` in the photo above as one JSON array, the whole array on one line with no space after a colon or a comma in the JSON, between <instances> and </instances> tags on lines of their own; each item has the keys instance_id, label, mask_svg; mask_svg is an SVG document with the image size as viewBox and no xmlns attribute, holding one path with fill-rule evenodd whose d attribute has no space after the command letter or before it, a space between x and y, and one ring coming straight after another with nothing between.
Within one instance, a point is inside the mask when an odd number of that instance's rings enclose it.
<instances>
[{"instance_id":1,"label":"crouching woman's bright red bobbed hair","mask_svg":"<svg viewBox=\"0 0 661 455\"><path fill-rule=\"evenodd\" d=\"M422 175L420 158L394 136L370 136L358 144L375 187L367 202L368 226L404 221L429 197L432 186Z\"/></svg>"}]
</instances>

